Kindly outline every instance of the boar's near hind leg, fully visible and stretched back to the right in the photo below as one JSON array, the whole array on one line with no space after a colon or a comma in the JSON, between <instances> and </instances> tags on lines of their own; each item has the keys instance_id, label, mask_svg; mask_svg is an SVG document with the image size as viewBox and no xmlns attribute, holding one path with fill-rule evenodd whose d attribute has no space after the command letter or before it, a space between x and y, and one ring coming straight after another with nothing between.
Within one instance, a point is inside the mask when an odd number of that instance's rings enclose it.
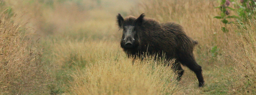
<instances>
[{"instance_id":1,"label":"boar's near hind leg, fully visible and stretched back to the right","mask_svg":"<svg viewBox=\"0 0 256 95\"><path fill-rule=\"evenodd\" d=\"M187 66L190 70L196 73L196 77L199 81L199 87L203 87L204 81L202 75L202 67L196 63L196 60L194 60L194 55L181 53L179 54L178 60L181 62L181 64Z\"/></svg>"}]
</instances>

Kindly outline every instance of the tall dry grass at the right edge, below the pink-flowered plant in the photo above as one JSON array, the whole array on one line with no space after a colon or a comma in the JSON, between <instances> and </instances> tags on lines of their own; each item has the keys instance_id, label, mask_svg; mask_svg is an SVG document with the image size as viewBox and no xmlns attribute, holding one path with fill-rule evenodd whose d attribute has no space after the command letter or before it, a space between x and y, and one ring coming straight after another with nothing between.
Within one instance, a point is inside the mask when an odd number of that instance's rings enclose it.
<instances>
[{"instance_id":1,"label":"tall dry grass at the right edge, below the pink-flowered plant","mask_svg":"<svg viewBox=\"0 0 256 95\"><path fill-rule=\"evenodd\" d=\"M245 90L246 93L255 93L256 92L256 16L253 16L252 19L248 19L249 22L246 22L245 25L237 24L238 27L233 28L234 31L240 33L240 36L237 38L237 42L234 44L235 51L232 53L232 57L237 62L235 64L234 70L238 72L238 74L234 74L234 76L238 76L241 82L237 84L240 85L240 90Z\"/></svg>"}]
</instances>

